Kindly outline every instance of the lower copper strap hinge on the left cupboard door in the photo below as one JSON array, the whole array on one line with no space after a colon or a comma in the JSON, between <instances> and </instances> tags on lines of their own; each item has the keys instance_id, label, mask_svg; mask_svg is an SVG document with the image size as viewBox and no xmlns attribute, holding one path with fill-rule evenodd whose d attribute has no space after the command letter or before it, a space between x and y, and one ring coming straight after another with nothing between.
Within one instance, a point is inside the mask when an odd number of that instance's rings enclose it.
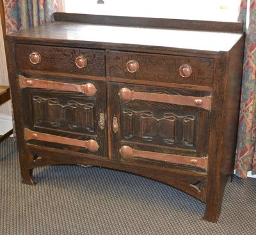
<instances>
[{"instance_id":1,"label":"lower copper strap hinge on the left cupboard door","mask_svg":"<svg viewBox=\"0 0 256 235\"><path fill-rule=\"evenodd\" d=\"M67 137L61 137L57 135L50 135L41 132L34 132L29 129L24 129L24 138L26 140L41 140L45 142L52 142L58 144L67 144L71 146L83 147L89 149L91 152L95 152L99 149L99 144L95 140L77 140Z\"/></svg>"}]
</instances>

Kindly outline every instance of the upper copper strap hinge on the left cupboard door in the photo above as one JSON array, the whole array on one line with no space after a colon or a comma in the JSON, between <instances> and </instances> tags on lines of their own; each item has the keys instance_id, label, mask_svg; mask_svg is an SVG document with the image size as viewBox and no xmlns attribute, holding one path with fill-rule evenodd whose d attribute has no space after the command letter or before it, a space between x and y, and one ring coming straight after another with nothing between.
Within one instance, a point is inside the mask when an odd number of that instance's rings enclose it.
<instances>
[{"instance_id":1,"label":"upper copper strap hinge on the left cupboard door","mask_svg":"<svg viewBox=\"0 0 256 235\"><path fill-rule=\"evenodd\" d=\"M19 75L20 87L34 87L42 89L54 89L59 91L74 91L84 93L86 96L94 96L97 89L88 82L86 84L70 84L65 82L53 82L51 80L28 79Z\"/></svg>"}]
</instances>

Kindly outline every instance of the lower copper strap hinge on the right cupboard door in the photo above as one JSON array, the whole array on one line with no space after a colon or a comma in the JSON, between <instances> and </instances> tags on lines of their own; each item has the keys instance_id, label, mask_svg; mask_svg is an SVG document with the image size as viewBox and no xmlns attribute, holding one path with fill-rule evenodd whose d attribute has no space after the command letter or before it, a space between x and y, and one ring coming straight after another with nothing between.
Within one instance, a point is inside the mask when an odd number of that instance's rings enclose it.
<instances>
[{"instance_id":1,"label":"lower copper strap hinge on the right cupboard door","mask_svg":"<svg viewBox=\"0 0 256 235\"><path fill-rule=\"evenodd\" d=\"M124 158L138 157L138 158L145 158L145 159L157 160L157 161L168 162L168 163L176 163L181 165L191 165L193 167L200 167L203 169L208 168L207 157L193 158L191 156L155 153L155 152L132 149L130 146L122 146L122 148L119 151Z\"/></svg>"}]
</instances>

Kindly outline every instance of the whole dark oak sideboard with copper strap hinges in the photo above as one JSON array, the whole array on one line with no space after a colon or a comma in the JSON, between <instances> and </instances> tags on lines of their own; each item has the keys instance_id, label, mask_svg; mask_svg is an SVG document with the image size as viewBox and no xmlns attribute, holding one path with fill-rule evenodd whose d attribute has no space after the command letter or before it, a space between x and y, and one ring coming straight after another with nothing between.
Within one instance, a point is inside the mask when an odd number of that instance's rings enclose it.
<instances>
[{"instance_id":1,"label":"whole dark oak sideboard with copper strap hinges","mask_svg":"<svg viewBox=\"0 0 256 235\"><path fill-rule=\"evenodd\" d=\"M33 169L45 165L108 167L189 193L217 222L234 171L242 24L54 17L6 36L23 183L34 185ZM92 95L76 89L88 83Z\"/></svg>"}]
</instances>

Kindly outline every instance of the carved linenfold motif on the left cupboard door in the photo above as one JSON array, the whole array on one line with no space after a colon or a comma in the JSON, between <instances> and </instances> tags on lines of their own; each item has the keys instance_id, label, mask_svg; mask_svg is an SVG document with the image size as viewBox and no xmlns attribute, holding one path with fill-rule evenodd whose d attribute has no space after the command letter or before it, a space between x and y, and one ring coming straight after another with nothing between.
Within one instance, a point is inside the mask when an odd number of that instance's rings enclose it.
<instances>
[{"instance_id":1,"label":"carved linenfold motif on the left cupboard door","mask_svg":"<svg viewBox=\"0 0 256 235\"><path fill-rule=\"evenodd\" d=\"M39 126L58 128L65 125L71 130L95 132L93 107L93 103L69 100L63 104L57 98L33 96L33 115Z\"/></svg>"}]
</instances>

